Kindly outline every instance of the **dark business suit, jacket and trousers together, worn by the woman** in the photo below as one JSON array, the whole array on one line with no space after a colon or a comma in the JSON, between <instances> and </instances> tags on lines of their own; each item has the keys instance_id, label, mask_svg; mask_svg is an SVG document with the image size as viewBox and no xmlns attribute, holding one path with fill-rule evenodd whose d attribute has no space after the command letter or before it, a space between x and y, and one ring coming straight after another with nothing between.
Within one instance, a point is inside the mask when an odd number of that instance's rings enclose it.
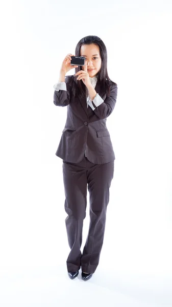
<instances>
[{"instance_id":1,"label":"dark business suit, jacket and trousers together, worn by the woman","mask_svg":"<svg viewBox=\"0 0 172 307\"><path fill-rule=\"evenodd\" d=\"M113 179L115 155L106 118L112 113L117 97L117 85L111 83L110 97L101 91L99 81L96 93L104 102L87 108L86 97L74 98L66 76L67 91L54 92L54 104L67 106L67 119L56 156L63 159L66 230L70 253L68 272L82 267L83 272L94 273L103 245L109 188ZM82 82L82 81L81 81ZM85 155L86 150L86 155ZM90 226L86 244L81 253L83 220L86 215L87 184L90 195Z\"/></svg>"}]
</instances>

